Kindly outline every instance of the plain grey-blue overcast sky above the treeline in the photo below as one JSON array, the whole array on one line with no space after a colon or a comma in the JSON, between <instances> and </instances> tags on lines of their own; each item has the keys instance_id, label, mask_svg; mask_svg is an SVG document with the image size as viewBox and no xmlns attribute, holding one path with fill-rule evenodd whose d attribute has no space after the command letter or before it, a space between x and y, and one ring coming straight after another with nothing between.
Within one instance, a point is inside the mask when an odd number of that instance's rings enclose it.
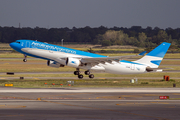
<instances>
[{"instance_id":1,"label":"plain grey-blue overcast sky above the treeline","mask_svg":"<svg viewBox=\"0 0 180 120\"><path fill-rule=\"evenodd\" d=\"M0 0L0 26L180 28L180 0Z\"/></svg>"}]
</instances>

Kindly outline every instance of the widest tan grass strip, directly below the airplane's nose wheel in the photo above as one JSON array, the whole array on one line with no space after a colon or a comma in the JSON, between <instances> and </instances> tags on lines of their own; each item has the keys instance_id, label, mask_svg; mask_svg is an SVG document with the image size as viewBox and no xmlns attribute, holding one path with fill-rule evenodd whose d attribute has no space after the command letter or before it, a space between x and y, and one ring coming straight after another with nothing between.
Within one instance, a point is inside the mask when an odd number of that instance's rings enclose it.
<instances>
[{"instance_id":1,"label":"widest tan grass strip, directly below the airplane's nose wheel","mask_svg":"<svg viewBox=\"0 0 180 120\"><path fill-rule=\"evenodd\" d=\"M161 68L172 68L168 70L180 70L180 67L176 66L180 65L179 60L164 60L161 65ZM26 63L22 62L21 59L0 59L0 68L0 72L73 72L75 70L75 68L68 66L60 68L49 67L47 66L47 61L41 59L29 59Z\"/></svg>"}]
</instances>

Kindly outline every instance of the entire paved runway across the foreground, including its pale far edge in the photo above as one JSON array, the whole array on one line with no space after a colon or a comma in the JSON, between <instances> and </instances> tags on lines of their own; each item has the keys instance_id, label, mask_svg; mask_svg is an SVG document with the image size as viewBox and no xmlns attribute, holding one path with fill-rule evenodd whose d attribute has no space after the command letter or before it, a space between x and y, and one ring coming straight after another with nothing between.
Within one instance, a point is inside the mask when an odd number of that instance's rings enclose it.
<instances>
[{"instance_id":1,"label":"entire paved runway across the foreground, including its pale far edge","mask_svg":"<svg viewBox=\"0 0 180 120\"><path fill-rule=\"evenodd\" d=\"M1 87L0 119L179 120L179 96L179 88Z\"/></svg>"}]
</instances>

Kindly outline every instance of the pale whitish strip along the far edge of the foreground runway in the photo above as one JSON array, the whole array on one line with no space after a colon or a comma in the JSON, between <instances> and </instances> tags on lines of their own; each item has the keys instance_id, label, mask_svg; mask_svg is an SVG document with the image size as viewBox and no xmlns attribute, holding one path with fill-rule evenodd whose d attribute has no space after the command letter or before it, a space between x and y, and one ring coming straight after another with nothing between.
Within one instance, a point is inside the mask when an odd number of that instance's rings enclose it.
<instances>
[{"instance_id":1,"label":"pale whitish strip along the far edge of the foreground runway","mask_svg":"<svg viewBox=\"0 0 180 120\"><path fill-rule=\"evenodd\" d=\"M180 93L180 88L9 88L0 93Z\"/></svg>"}]
</instances>

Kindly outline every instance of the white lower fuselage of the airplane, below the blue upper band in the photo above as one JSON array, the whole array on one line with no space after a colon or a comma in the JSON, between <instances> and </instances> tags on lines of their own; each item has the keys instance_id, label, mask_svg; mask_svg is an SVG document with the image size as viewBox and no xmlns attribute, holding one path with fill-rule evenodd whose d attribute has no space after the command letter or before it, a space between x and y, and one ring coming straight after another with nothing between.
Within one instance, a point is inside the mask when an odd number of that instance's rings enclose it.
<instances>
[{"instance_id":1,"label":"white lower fuselage of the airplane, below the blue upper band","mask_svg":"<svg viewBox=\"0 0 180 120\"><path fill-rule=\"evenodd\" d=\"M67 58L67 57L88 58L87 56L64 53L59 51L44 50L44 49L23 48L21 50L25 52L27 55L55 60L61 64L65 64L65 60L63 61L62 58ZM119 62L111 61L111 62L98 63L93 66L88 64L86 66L79 66L79 68L85 70L98 70L98 71L100 70L113 74L140 74L146 72L146 67L147 67L146 65L132 63L129 61L119 61Z\"/></svg>"}]
</instances>

